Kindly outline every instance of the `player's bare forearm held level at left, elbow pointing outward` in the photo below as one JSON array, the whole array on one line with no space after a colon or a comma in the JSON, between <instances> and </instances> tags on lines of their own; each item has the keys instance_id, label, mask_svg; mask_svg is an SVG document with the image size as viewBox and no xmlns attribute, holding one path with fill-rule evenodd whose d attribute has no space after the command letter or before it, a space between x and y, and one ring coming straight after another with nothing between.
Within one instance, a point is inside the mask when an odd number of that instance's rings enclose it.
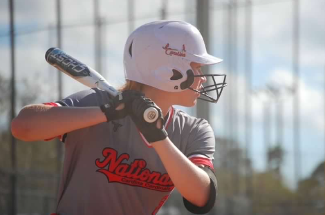
<instances>
[{"instance_id":1,"label":"player's bare forearm held level at left, elbow pointing outward","mask_svg":"<svg viewBox=\"0 0 325 215\"><path fill-rule=\"evenodd\" d=\"M28 105L12 121L12 135L23 141L49 139L106 121L99 107Z\"/></svg>"}]
</instances>

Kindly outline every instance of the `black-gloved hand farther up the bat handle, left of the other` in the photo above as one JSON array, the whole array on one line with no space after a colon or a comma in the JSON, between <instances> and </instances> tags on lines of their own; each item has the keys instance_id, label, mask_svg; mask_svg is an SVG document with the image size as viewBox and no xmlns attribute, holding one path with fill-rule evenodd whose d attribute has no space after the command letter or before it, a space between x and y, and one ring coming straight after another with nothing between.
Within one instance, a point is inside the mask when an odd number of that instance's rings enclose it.
<instances>
[{"instance_id":1,"label":"black-gloved hand farther up the bat handle, left of the other","mask_svg":"<svg viewBox=\"0 0 325 215\"><path fill-rule=\"evenodd\" d=\"M129 114L132 101L140 96L145 96L145 94L137 90L124 90L109 103L101 105L100 109L104 112L108 122L122 119Z\"/></svg>"}]
</instances>

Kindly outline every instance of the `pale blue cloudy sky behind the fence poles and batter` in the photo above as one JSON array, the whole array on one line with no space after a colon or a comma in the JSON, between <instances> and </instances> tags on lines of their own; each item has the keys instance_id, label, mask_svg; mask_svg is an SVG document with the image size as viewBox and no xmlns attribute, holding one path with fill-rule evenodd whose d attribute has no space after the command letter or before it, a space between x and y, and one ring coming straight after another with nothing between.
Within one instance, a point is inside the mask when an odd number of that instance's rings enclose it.
<instances>
[{"instance_id":1,"label":"pale blue cloudy sky behind the fence poles and batter","mask_svg":"<svg viewBox=\"0 0 325 215\"><path fill-rule=\"evenodd\" d=\"M237 14L237 41L236 52L239 60L236 71L228 71L228 56L225 48L228 48L228 36L225 35L227 20L223 18L223 10L217 10L220 2L213 1L210 19L210 47L209 50L216 57L225 61L219 65L213 65L212 72L233 74L236 78L236 97L239 101L232 112L238 116L237 141L243 145L245 140L244 130L244 98L247 79L245 77L243 59L245 57L244 43L244 8L239 8ZM240 1L242 2L242 1ZM253 1L261 3L262 0ZM263 1L266 2L266 1ZM292 65L292 27L293 27L293 1L280 3L268 3L252 8L252 74L253 90L265 88L267 83L279 86L293 84ZM300 5L300 74L301 86L301 153L302 176L305 177L324 160L324 83L325 83L325 17L324 0L301 0ZM141 0L136 1L134 27L159 19L162 1ZM46 29L55 25L55 1L27 0L15 1L15 21L17 32ZM100 1L100 14L106 21L127 20L127 1ZM183 19L195 24L195 1L168 1L167 19ZM65 28L62 32L63 50L80 61L95 67L94 41L93 41L93 4L90 0L64 1L62 5L62 25L83 25L80 28ZM2 75L10 76L10 49L8 33L9 13L8 2L0 1L0 48ZM105 25L102 74L113 83L122 85L124 73L122 68L122 50L124 42L129 34L127 23ZM50 68L44 61L44 54L50 47L56 46L55 30L46 30L32 34L19 35L17 37L17 75L34 80L37 76L37 84L43 85L43 93L37 102L53 101L57 95L53 89L57 88L57 72ZM50 79L51 81L47 81ZM228 80L229 82L229 80ZM231 83L230 83L231 84ZM86 87L64 76L64 96L68 96ZM18 88L22 94L23 89ZM229 90L226 88L218 104L213 106L212 124L216 135L227 134L223 122L230 118L225 112L224 103L228 102ZM262 103L260 96L252 97L253 108L253 136L252 152L254 167L263 170L265 167L265 154L263 143L263 119ZM293 97L288 96L284 104L284 148L287 153L284 165L286 181L293 185ZM18 103L19 105L19 103ZM274 104L272 105L275 106ZM196 114L196 108L183 108L189 114ZM274 119L275 108L272 108L271 119ZM272 121L271 137L275 141L275 122Z\"/></svg>"}]
</instances>

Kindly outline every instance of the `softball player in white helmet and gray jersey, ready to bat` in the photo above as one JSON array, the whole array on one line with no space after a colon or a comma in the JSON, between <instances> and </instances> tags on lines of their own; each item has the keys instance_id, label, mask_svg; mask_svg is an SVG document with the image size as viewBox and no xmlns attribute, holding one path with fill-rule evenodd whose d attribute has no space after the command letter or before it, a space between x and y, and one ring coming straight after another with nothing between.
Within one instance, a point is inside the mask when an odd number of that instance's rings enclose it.
<instances>
[{"instance_id":1,"label":"softball player in white helmet and gray jersey, ready to bat","mask_svg":"<svg viewBox=\"0 0 325 215\"><path fill-rule=\"evenodd\" d=\"M155 21L127 39L120 96L92 88L24 107L12 121L14 136L23 141L59 136L64 143L56 214L156 214L174 188L189 212L209 212L217 192L214 133L205 119L173 105L216 103L225 75L204 75L201 66L219 62L207 54L193 25ZM203 88L214 76L223 82ZM154 123L143 119L148 107L158 110Z\"/></svg>"}]
</instances>

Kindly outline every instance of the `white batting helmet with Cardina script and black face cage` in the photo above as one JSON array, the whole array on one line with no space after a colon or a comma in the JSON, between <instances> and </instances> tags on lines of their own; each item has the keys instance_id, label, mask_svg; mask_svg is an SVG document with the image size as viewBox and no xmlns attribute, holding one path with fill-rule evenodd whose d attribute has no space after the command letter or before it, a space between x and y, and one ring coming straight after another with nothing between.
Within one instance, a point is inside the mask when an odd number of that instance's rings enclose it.
<instances>
[{"instance_id":1,"label":"white batting helmet with Cardina script and black face cage","mask_svg":"<svg viewBox=\"0 0 325 215\"><path fill-rule=\"evenodd\" d=\"M200 93L207 97L203 100L214 103L227 85L225 74L194 75L190 63L211 65L221 61L207 54L201 33L184 21L154 21L142 25L131 33L124 47L125 79L167 92L180 92L194 90L191 88L194 77L210 76L214 85L206 86ZM223 82L216 83L214 76L223 76ZM213 90L216 90L216 99L207 94Z\"/></svg>"}]
</instances>

